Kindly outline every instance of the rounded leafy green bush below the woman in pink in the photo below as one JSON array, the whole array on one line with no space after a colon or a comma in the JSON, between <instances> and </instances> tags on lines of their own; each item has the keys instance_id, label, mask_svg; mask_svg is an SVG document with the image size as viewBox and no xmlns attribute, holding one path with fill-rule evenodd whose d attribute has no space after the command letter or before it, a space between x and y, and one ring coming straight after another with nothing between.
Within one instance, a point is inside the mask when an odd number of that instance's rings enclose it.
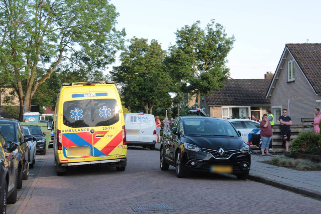
<instances>
[{"instance_id":1,"label":"rounded leafy green bush below the woman in pink","mask_svg":"<svg viewBox=\"0 0 321 214\"><path fill-rule=\"evenodd\" d=\"M306 153L321 155L321 135L313 131L300 132L291 143L290 151L294 153Z\"/></svg>"}]
</instances>

